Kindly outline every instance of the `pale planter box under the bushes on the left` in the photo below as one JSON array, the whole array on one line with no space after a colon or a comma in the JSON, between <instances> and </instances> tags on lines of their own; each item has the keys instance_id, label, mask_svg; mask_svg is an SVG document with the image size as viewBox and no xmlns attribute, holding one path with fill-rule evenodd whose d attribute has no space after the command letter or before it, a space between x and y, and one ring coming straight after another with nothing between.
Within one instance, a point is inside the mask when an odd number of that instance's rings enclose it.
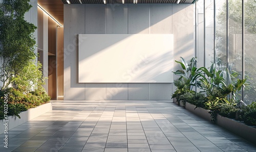
<instances>
[{"instance_id":1,"label":"pale planter box under the bushes on the left","mask_svg":"<svg viewBox=\"0 0 256 152\"><path fill-rule=\"evenodd\" d=\"M4 121L1 120L1 125L0 125L0 134L4 133L5 130L5 122L8 122L8 130L11 130L15 128L16 126L23 124L35 117L38 117L48 111L52 110L52 103L47 103L44 105L40 105L36 108L31 108L28 109L27 111L23 111L19 114L20 119L17 116L9 116L8 120L9 121Z\"/></svg>"}]
</instances>

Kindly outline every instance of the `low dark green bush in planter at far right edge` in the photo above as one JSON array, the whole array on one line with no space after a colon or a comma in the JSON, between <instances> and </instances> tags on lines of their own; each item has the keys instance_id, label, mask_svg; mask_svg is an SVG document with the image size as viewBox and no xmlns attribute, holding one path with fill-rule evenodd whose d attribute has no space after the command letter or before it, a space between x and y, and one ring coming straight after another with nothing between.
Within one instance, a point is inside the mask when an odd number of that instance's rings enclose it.
<instances>
[{"instance_id":1,"label":"low dark green bush in planter at far right edge","mask_svg":"<svg viewBox=\"0 0 256 152\"><path fill-rule=\"evenodd\" d=\"M252 102L245 108L242 119L244 123L256 126L256 102Z\"/></svg>"}]
</instances>

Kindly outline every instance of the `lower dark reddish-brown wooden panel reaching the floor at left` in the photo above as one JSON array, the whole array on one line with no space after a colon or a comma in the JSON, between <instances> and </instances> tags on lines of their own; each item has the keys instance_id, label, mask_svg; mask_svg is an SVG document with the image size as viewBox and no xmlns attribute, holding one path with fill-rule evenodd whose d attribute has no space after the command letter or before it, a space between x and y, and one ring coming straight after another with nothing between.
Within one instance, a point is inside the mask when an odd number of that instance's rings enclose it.
<instances>
[{"instance_id":1,"label":"lower dark reddish-brown wooden panel reaching the floor at left","mask_svg":"<svg viewBox=\"0 0 256 152\"><path fill-rule=\"evenodd\" d=\"M57 99L56 56L48 57L48 90L51 99Z\"/></svg>"}]
</instances>

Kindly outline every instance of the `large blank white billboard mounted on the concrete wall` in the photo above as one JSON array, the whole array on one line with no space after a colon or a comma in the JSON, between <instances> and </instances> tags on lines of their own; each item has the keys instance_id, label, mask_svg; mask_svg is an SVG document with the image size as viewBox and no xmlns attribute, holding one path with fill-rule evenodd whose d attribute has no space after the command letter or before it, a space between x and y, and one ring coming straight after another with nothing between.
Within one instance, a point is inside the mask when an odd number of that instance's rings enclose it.
<instances>
[{"instance_id":1,"label":"large blank white billboard mounted on the concrete wall","mask_svg":"<svg viewBox=\"0 0 256 152\"><path fill-rule=\"evenodd\" d=\"M79 83L172 83L172 34L79 34Z\"/></svg>"}]
</instances>

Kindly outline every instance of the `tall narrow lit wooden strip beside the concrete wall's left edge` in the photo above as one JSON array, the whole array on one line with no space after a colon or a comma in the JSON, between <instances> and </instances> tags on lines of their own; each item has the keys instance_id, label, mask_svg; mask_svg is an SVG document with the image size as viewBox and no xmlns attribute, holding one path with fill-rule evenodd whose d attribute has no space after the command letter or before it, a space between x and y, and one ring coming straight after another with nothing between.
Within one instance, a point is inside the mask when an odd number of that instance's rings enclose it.
<instances>
[{"instance_id":1,"label":"tall narrow lit wooden strip beside the concrete wall's left edge","mask_svg":"<svg viewBox=\"0 0 256 152\"><path fill-rule=\"evenodd\" d=\"M63 37L63 27L57 28L57 98L62 100L63 99L63 73L64 73L64 54L63 54L63 47L64 47L64 37Z\"/></svg>"}]
</instances>

